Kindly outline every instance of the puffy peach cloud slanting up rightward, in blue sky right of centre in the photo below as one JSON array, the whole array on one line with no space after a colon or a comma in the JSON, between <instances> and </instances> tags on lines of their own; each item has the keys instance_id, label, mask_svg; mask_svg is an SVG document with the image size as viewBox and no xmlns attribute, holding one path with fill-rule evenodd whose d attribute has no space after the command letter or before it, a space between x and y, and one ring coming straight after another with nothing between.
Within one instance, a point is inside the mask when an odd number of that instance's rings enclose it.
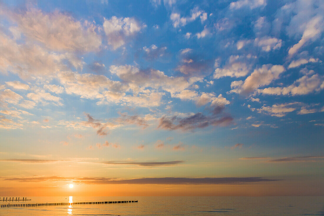
<instances>
[{"instance_id":1,"label":"puffy peach cloud slanting up rightward, in blue sky right of centre","mask_svg":"<svg viewBox=\"0 0 324 216\"><path fill-rule=\"evenodd\" d=\"M245 81L233 81L231 87L234 88L230 92L250 93L257 88L269 85L272 80L278 79L279 75L285 71L281 65L263 65L257 68L253 73L245 79Z\"/></svg>"}]
</instances>

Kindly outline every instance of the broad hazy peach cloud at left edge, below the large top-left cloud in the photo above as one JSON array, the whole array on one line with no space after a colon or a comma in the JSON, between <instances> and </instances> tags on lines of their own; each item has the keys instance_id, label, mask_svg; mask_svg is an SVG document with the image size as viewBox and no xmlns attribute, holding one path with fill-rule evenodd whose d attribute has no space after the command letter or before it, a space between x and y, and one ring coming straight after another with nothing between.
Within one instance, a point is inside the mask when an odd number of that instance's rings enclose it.
<instances>
[{"instance_id":1,"label":"broad hazy peach cloud at left edge, below the large top-left cloud","mask_svg":"<svg viewBox=\"0 0 324 216\"><path fill-rule=\"evenodd\" d=\"M15 40L0 31L0 71L10 71L21 78L33 76L52 76L59 71L67 70L64 61L82 68L83 62L73 54L49 52L44 47L26 42L18 44Z\"/></svg>"}]
</instances>

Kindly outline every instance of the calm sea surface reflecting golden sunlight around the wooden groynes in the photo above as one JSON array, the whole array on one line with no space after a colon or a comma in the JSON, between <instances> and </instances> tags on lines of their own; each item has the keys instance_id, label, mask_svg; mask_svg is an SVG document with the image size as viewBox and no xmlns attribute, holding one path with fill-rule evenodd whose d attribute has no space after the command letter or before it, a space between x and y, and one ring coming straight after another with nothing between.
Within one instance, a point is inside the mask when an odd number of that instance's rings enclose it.
<instances>
[{"instance_id":1,"label":"calm sea surface reflecting golden sunlight around the wooden groynes","mask_svg":"<svg viewBox=\"0 0 324 216\"><path fill-rule=\"evenodd\" d=\"M15 197L16 198L16 197ZM28 197L0 204L138 200L137 203L0 208L0 215L324 215L324 197Z\"/></svg>"}]
</instances>

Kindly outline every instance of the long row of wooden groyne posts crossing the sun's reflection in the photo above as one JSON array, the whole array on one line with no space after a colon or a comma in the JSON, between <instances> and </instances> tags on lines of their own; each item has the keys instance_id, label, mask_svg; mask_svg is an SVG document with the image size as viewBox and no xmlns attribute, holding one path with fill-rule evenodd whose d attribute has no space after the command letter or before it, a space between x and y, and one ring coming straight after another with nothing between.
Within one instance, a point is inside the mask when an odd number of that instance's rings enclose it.
<instances>
[{"instance_id":1,"label":"long row of wooden groyne posts crossing the sun's reflection","mask_svg":"<svg viewBox=\"0 0 324 216\"><path fill-rule=\"evenodd\" d=\"M38 207L38 206L73 206L73 205L93 205L93 204L117 204L117 203L131 203L138 202L138 200L130 201L99 201L99 202L57 202L57 203L24 203L24 204L1 204L0 208L9 207Z\"/></svg>"}]
</instances>

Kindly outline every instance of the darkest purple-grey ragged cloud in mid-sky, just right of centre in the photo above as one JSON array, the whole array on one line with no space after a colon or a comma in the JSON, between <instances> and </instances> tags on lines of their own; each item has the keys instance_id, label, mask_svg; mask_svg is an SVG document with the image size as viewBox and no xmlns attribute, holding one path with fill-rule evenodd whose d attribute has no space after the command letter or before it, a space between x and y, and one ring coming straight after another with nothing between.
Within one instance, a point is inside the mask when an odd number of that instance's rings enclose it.
<instances>
[{"instance_id":1,"label":"darkest purple-grey ragged cloud in mid-sky, just right of centre","mask_svg":"<svg viewBox=\"0 0 324 216\"><path fill-rule=\"evenodd\" d=\"M233 118L230 116L217 117L217 115L206 116L203 113L196 113L188 117L162 117L159 119L157 128L165 130L182 130L192 131L197 128L204 128L207 126L228 126L231 124Z\"/></svg>"}]
</instances>

